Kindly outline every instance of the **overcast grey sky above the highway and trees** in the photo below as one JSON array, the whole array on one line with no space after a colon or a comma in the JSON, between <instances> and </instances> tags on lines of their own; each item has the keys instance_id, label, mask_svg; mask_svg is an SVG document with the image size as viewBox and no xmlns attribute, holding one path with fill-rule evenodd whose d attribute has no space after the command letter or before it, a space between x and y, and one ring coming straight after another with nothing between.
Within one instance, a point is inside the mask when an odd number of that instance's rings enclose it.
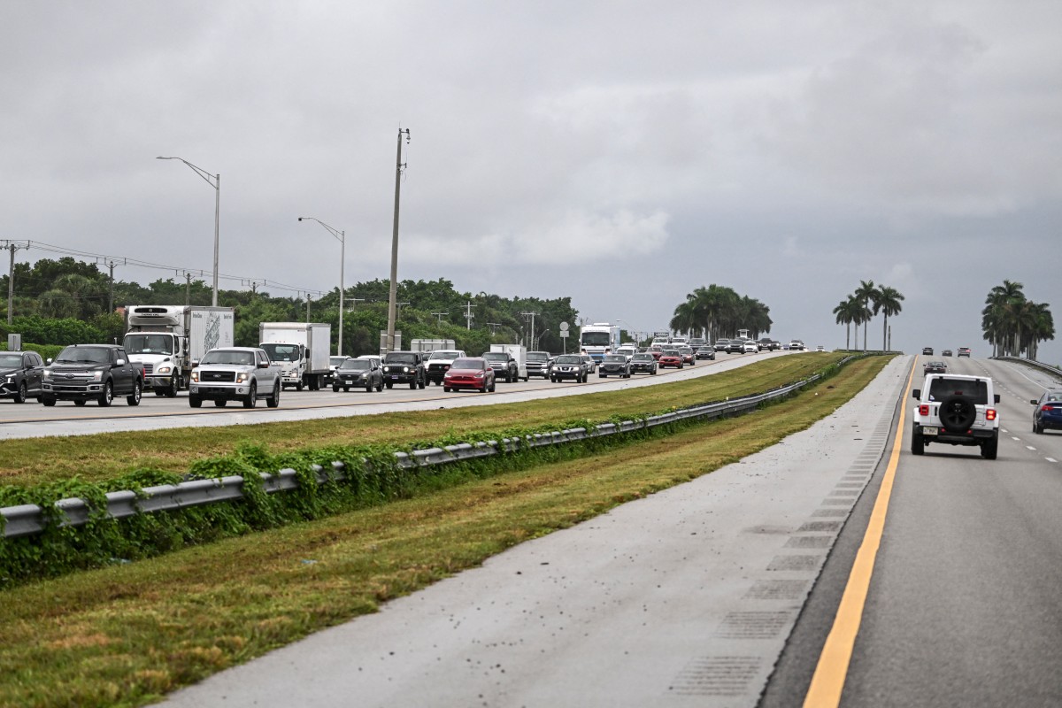
<instances>
[{"instance_id":1,"label":"overcast grey sky above the highway and trees","mask_svg":"<svg viewBox=\"0 0 1062 708\"><path fill-rule=\"evenodd\" d=\"M827 347L873 280L894 347L976 356L1007 278L1062 329L1056 0L0 10L0 239L209 272L215 192L172 155L221 174L222 274L337 287L306 215L348 284L386 279L404 127L400 279L635 330L715 282Z\"/></svg>"}]
</instances>

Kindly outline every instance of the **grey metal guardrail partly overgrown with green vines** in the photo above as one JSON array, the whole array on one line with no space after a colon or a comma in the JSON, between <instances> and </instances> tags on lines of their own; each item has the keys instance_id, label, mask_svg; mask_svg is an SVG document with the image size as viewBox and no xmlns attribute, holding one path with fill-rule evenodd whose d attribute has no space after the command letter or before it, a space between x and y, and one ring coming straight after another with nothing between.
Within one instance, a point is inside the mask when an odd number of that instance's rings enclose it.
<instances>
[{"instance_id":1,"label":"grey metal guardrail partly overgrown with green vines","mask_svg":"<svg viewBox=\"0 0 1062 708\"><path fill-rule=\"evenodd\" d=\"M847 363L854 358L846 357L838 362L838 365ZM572 428L551 433L528 435L524 438L503 437L501 441L461 443L458 445L447 445L444 448L414 450L412 454L406 452L395 452L394 454L398 466L402 469L429 467L432 465L486 457L502 452L516 452L525 448L534 449L552 445L563 445L592 437L615 435L617 433L664 426L679 420L693 418L713 419L740 415L755 410L760 403L766 401L784 398L792 392L818 381L821 376L820 374L816 374L803 381L798 381L796 383L763 394L696 405L680 411L649 416L639 420L623 420L619 424L606 422L589 430L586 428ZM332 476L330 478L324 472L323 467L319 465L313 466L319 484L323 484L329 481L329 479L337 481L345 479L343 463L333 462L331 466ZM293 469L281 469L275 473L259 472L259 474L261 476L262 487L268 494L287 491L298 487L295 477L296 472ZM106 495L106 513L110 518L121 519L136 514L174 511L242 498L243 478L232 476L219 479L193 480L182 482L181 484L144 487L139 493L131 490L112 491ZM92 512L90 503L79 498L61 499L55 502L55 510L61 516L59 524L71 526L87 523ZM4 520L4 538L32 536L44 532L48 526L48 519L44 510L36 504L21 504L19 506L0 508L0 517Z\"/></svg>"}]
</instances>

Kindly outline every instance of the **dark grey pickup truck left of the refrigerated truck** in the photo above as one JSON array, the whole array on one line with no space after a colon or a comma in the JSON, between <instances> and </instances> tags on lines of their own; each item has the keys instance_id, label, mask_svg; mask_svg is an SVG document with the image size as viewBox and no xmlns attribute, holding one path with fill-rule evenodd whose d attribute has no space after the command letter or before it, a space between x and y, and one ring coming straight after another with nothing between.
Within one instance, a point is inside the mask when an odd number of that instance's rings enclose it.
<instances>
[{"instance_id":1,"label":"dark grey pickup truck left of the refrigerated truck","mask_svg":"<svg viewBox=\"0 0 1062 708\"><path fill-rule=\"evenodd\" d=\"M143 364L130 362L125 349L115 344L74 344L45 367L40 402L55 405L72 400L84 405L95 400L110 405L115 396L125 396L130 405L140 404Z\"/></svg>"}]
</instances>

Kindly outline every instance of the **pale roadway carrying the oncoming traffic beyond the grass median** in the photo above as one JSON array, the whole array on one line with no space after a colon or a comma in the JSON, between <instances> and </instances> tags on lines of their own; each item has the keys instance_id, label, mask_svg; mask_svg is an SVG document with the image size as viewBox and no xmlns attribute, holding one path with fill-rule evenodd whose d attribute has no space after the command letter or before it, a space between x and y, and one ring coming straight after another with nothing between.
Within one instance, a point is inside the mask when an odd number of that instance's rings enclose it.
<instances>
[{"instance_id":1,"label":"pale roadway carrying the oncoming traffic beyond the grass median","mask_svg":"<svg viewBox=\"0 0 1062 708\"><path fill-rule=\"evenodd\" d=\"M259 400L258 407L253 410L245 410L236 402L232 402L225 408L213 408L210 403L205 403L202 409L191 409L188 405L187 392L182 392L176 398L155 396L148 392L140 405L137 407L127 405L123 398L116 398L109 408L100 408L96 403L79 407L69 401L61 401L52 408L45 408L35 401L17 404L10 400L0 399L0 439L88 435L124 430L157 430L159 428L251 425L277 420L307 420L373 415L394 411L517 402L533 398L563 398L593 391L622 390L668 381L681 381L744 366L765 358L789 356L789 351L757 355L720 353L717 355L715 361L701 361L693 366L685 366L682 369L668 368L661 370L655 376L639 374L630 379L616 377L601 379L595 374L586 383L570 381L551 383L541 378L533 378L527 382L506 383L501 381L493 394L444 393L442 386L434 385L416 391L411 391L408 387L384 388L379 393L364 391L333 393L331 388L296 392L294 388L286 388L280 395L280 407L276 409L267 408L263 400Z\"/></svg>"}]
</instances>

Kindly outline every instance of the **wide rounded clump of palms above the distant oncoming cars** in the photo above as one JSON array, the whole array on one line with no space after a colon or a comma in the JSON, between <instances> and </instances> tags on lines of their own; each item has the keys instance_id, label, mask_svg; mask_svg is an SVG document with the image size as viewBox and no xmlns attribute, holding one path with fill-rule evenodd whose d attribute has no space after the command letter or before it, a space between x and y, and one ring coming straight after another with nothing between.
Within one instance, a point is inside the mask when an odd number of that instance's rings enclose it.
<instances>
[{"instance_id":1,"label":"wide rounded clump of palms above the distant oncoming cars","mask_svg":"<svg viewBox=\"0 0 1062 708\"><path fill-rule=\"evenodd\" d=\"M748 295L738 295L732 288L710 284L686 295L674 309L668 327L688 336L704 336L710 342L735 338L739 329L759 339L771 331L771 309Z\"/></svg>"}]
</instances>

